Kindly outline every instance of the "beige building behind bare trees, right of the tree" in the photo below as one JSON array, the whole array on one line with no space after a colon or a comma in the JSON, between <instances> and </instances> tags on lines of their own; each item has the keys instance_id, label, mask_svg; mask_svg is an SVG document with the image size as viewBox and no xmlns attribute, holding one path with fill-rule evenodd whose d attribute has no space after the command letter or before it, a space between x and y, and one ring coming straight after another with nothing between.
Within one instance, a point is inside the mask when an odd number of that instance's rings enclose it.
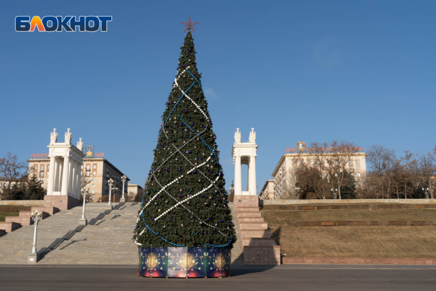
<instances>
[{"instance_id":1,"label":"beige building behind bare trees, right of the tree","mask_svg":"<svg viewBox=\"0 0 436 291\"><path fill-rule=\"evenodd\" d=\"M272 177L274 178L272 180L273 195L270 193L270 182L268 182L271 180L268 180L264 186L264 188L268 190L268 195L265 195L264 193L262 196L264 198L261 198L260 196L260 199L281 199L285 192L290 193L291 199L296 199L295 171L299 166L299 163L300 165L301 163L304 163L307 167L320 168L323 177L328 179L326 168L328 167L328 157L331 154L332 153L329 152L329 149L327 149L326 152L321 155L324 156L325 159L321 159L319 162L314 153L306 151L306 144L303 142L297 143L295 148L287 148L286 153L282 156L272 173ZM344 165L344 168L347 171L352 172L353 177L356 180L356 187L361 185L361 177L366 175L366 156L367 154L363 151L363 147L359 147L358 151L352 153L352 156L347 159L347 164ZM319 157L320 155L318 158ZM266 191L264 188L262 191Z\"/></svg>"}]
</instances>

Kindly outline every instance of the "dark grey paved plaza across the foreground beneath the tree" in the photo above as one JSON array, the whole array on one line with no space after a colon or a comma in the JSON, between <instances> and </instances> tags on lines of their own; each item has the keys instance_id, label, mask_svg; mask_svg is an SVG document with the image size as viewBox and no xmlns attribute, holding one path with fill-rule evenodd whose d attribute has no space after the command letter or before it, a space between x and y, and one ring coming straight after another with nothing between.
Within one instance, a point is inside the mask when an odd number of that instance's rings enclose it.
<instances>
[{"instance_id":1,"label":"dark grey paved plaza across the foreground beneath the tree","mask_svg":"<svg viewBox=\"0 0 436 291\"><path fill-rule=\"evenodd\" d=\"M136 276L135 266L0 265L0 290L434 290L436 266L234 266L230 278Z\"/></svg>"}]
</instances>

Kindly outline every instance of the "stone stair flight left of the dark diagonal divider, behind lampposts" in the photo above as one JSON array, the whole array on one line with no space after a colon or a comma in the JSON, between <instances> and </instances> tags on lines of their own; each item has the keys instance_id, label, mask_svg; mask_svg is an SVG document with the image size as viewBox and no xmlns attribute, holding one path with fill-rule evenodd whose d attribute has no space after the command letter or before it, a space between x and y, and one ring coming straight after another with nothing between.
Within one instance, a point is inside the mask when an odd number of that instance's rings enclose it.
<instances>
[{"instance_id":1,"label":"stone stair flight left of the dark diagonal divider, behind lampposts","mask_svg":"<svg viewBox=\"0 0 436 291\"><path fill-rule=\"evenodd\" d=\"M86 204L88 220L96 217L105 209L104 205L88 206L92 204L97 203ZM48 247L55 239L62 238L69 230L75 229L81 217L82 207L76 206L41 220L38 223L37 249ZM34 225L23 225L21 228L12 229L11 232L7 232L6 235L0 237L0 264L26 264L27 255L32 250L33 231ZM74 240L74 236L71 240Z\"/></svg>"}]
</instances>

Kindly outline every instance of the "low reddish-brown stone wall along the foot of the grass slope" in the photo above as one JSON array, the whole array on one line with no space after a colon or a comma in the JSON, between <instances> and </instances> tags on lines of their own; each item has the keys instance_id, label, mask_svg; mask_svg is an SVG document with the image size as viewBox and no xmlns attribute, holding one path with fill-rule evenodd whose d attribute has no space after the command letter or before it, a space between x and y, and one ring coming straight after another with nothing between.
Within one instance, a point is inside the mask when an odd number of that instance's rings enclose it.
<instances>
[{"instance_id":1,"label":"low reddish-brown stone wall along the foot of the grass slope","mask_svg":"<svg viewBox=\"0 0 436 291\"><path fill-rule=\"evenodd\" d=\"M283 257L283 264L436 265L435 258L308 258Z\"/></svg>"}]
</instances>

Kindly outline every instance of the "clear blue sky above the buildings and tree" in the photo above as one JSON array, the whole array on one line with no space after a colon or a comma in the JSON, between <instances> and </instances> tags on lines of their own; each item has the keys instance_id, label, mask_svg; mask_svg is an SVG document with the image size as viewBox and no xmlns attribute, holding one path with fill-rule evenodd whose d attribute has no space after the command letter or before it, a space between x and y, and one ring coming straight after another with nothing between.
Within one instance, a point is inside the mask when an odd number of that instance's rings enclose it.
<instances>
[{"instance_id":1,"label":"clear blue sky above the buildings and tree","mask_svg":"<svg viewBox=\"0 0 436 291\"><path fill-rule=\"evenodd\" d=\"M15 1L0 5L0 156L56 127L144 184L185 33L234 177L257 132L257 186L297 141L426 153L436 143L435 1ZM111 15L108 32L15 32L17 15ZM243 178L246 175L243 174ZM245 187L246 181L243 181Z\"/></svg>"}]
</instances>

